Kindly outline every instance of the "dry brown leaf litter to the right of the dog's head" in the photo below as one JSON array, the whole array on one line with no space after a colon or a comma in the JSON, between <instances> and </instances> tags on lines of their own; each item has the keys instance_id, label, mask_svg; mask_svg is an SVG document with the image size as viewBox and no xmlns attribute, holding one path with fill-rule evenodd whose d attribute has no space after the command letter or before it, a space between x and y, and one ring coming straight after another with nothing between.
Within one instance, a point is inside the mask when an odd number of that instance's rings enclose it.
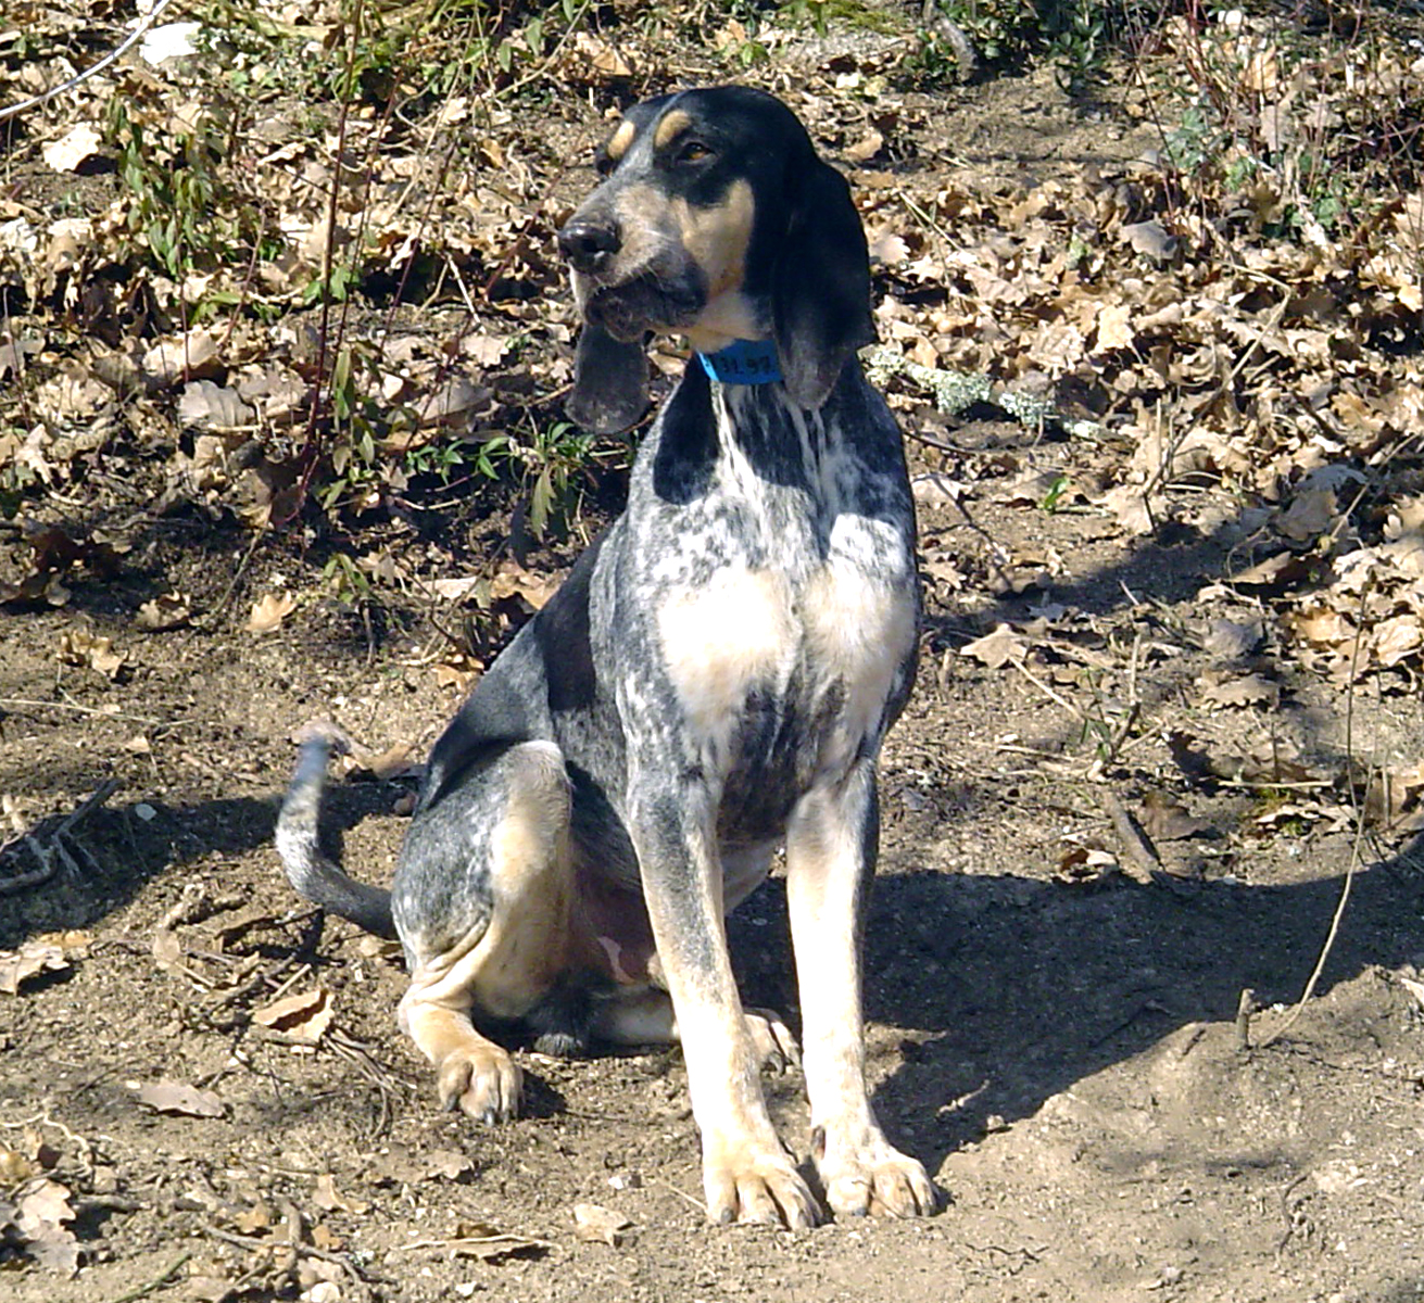
<instances>
[{"instance_id":1,"label":"dry brown leaf litter to the right of the dog's head","mask_svg":"<svg viewBox=\"0 0 1424 1303\"><path fill-rule=\"evenodd\" d=\"M1235 187L1222 169L1185 175L1171 151L1032 184L871 172L881 333L1099 423L1102 474L1038 473L1032 504L1230 541L1240 562L1218 591L1276 614L1300 664L1405 689L1424 664L1424 189L1364 189L1327 228L1292 142L1354 114L1364 87L1415 103L1424 60L1361 44L1287 78L1263 24L1237 14L1196 40L1213 67L1257 78L1274 154Z\"/></svg>"}]
</instances>

